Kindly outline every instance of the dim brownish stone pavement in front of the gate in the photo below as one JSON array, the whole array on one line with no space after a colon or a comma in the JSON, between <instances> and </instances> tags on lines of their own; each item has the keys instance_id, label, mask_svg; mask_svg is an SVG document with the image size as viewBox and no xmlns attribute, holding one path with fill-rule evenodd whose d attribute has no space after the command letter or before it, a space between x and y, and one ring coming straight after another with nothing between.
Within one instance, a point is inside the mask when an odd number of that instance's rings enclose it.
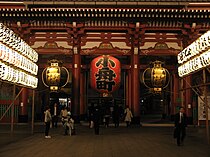
<instances>
[{"instance_id":1,"label":"dim brownish stone pavement in front of the gate","mask_svg":"<svg viewBox=\"0 0 210 157\"><path fill-rule=\"evenodd\" d=\"M16 126L13 136L0 125L0 157L210 157L205 128L189 127L184 146L173 139L172 126L101 127L100 135L87 125L77 124L76 135L64 136L63 128L50 130L44 138L44 125Z\"/></svg>"}]
</instances>

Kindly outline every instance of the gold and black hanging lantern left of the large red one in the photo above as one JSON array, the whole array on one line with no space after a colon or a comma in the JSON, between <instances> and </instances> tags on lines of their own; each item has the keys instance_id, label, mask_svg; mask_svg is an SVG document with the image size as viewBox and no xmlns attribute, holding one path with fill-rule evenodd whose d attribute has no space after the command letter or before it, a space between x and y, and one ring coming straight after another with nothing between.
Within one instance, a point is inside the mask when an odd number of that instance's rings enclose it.
<instances>
[{"instance_id":1,"label":"gold and black hanging lantern left of the large red one","mask_svg":"<svg viewBox=\"0 0 210 157\"><path fill-rule=\"evenodd\" d=\"M49 61L49 66L42 72L42 82L46 87L50 87L51 91L58 91L68 83L68 80L68 70L57 60Z\"/></svg>"}]
</instances>

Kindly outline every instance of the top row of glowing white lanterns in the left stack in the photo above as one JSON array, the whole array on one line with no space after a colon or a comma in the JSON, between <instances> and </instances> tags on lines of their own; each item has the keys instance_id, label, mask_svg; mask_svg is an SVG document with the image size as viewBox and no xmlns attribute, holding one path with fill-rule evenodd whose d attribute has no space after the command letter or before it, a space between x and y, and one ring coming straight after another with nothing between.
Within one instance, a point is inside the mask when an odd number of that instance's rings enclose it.
<instances>
[{"instance_id":1,"label":"top row of glowing white lanterns in the left stack","mask_svg":"<svg viewBox=\"0 0 210 157\"><path fill-rule=\"evenodd\" d=\"M0 42L18 51L31 61L38 61L38 53L3 23L0 23Z\"/></svg>"}]
</instances>

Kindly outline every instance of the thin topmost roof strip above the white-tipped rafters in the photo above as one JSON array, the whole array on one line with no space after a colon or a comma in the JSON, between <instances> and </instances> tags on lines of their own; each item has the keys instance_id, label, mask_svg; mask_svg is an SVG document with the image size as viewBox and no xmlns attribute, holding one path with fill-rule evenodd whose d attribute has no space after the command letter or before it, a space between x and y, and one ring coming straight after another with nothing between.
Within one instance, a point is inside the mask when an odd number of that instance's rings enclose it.
<instances>
[{"instance_id":1,"label":"thin topmost roof strip above the white-tipped rafters","mask_svg":"<svg viewBox=\"0 0 210 157\"><path fill-rule=\"evenodd\" d=\"M62 6L191 6L206 5L209 0L6 0L1 4L23 4L27 6L40 5L62 5Z\"/></svg>"}]
</instances>

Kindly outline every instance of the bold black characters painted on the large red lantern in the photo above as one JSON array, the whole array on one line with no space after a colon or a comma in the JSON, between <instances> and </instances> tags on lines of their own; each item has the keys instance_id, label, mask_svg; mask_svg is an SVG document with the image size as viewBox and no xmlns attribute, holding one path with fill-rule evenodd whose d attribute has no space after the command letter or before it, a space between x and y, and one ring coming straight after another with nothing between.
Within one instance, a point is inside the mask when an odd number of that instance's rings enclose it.
<instances>
[{"instance_id":1,"label":"bold black characters painted on the large red lantern","mask_svg":"<svg viewBox=\"0 0 210 157\"><path fill-rule=\"evenodd\" d=\"M116 77L115 72L109 68L108 64L110 63L111 67L115 67L115 62L109 59L107 56L99 59L96 62L96 66L99 67L102 65L102 68L98 70L95 74L97 89L112 91L112 87L115 85L114 78Z\"/></svg>"}]
</instances>

